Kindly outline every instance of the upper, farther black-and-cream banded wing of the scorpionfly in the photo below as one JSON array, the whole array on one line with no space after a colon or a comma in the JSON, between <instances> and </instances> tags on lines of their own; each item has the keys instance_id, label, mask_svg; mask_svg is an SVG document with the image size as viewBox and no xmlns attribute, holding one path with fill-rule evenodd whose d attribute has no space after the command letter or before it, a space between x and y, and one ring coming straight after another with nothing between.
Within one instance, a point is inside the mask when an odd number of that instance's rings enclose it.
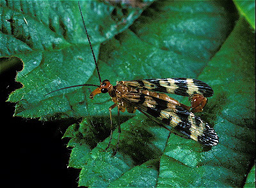
<instances>
[{"instance_id":1,"label":"upper, farther black-and-cream banded wing of the scorpionfly","mask_svg":"<svg viewBox=\"0 0 256 188\"><path fill-rule=\"evenodd\" d=\"M167 78L167 79L146 79L134 81L122 81L122 84L132 88L163 93L172 93L182 96L191 96L195 93L211 97L212 88L205 82L187 78Z\"/></svg>"}]
</instances>

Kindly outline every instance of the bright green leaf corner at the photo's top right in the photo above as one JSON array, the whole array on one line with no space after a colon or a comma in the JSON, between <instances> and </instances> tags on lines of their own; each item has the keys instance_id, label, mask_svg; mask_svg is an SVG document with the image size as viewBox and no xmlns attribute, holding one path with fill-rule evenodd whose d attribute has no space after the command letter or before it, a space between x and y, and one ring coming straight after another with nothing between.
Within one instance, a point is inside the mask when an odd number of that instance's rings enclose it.
<instances>
[{"instance_id":1,"label":"bright green leaf corner at the photo's top right","mask_svg":"<svg viewBox=\"0 0 256 188\"><path fill-rule=\"evenodd\" d=\"M249 24L255 29L255 0L234 0L237 9L249 22Z\"/></svg>"}]
</instances>

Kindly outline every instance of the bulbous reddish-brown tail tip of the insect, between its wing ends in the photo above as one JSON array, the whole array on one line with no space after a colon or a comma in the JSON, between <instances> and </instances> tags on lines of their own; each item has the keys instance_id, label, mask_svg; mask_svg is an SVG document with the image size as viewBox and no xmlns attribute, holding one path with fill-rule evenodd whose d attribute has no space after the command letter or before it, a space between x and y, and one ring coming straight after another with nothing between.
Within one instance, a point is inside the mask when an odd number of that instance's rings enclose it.
<instances>
[{"instance_id":1,"label":"bulbous reddish-brown tail tip of the insect, between its wing ends","mask_svg":"<svg viewBox=\"0 0 256 188\"><path fill-rule=\"evenodd\" d=\"M191 100L191 112L193 113L202 112L207 104L207 98L198 93L191 95L189 100Z\"/></svg>"}]
</instances>

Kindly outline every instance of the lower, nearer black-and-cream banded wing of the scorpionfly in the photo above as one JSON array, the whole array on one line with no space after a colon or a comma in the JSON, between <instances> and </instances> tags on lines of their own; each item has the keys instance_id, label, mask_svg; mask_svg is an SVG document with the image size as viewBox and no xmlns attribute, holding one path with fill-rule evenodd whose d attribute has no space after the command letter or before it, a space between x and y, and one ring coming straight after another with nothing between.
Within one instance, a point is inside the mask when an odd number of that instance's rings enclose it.
<instances>
[{"instance_id":1,"label":"lower, nearer black-and-cream banded wing of the scorpionfly","mask_svg":"<svg viewBox=\"0 0 256 188\"><path fill-rule=\"evenodd\" d=\"M202 145L218 144L218 136L208 123L181 106L136 92L125 93L122 98L158 123L171 126L175 131Z\"/></svg>"}]
</instances>

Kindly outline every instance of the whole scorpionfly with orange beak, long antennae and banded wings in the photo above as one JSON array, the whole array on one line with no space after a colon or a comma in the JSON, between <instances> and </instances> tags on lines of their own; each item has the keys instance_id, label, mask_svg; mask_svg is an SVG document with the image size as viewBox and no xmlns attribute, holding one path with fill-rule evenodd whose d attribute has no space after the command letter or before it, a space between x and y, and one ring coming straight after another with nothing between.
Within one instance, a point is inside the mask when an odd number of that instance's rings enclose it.
<instances>
[{"instance_id":1,"label":"whole scorpionfly with orange beak, long antennae and banded wings","mask_svg":"<svg viewBox=\"0 0 256 188\"><path fill-rule=\"evenodd\" d=\"M196 79L166 78L117 81L116 86L113 86L107 79L102 81L79 3L78 6L81 13L81 19L83 20L84 30L86 31L86 36L92 51L95 66L97 68L100 85L81 84L76 86L68 86L55 91L78 86L95 86L97 88L90 93L90 98L93 99L95 95L100 93L109 94L114 104L109 107L111 134L106 150L108 150L113 136L113 121L111 111L115 107L117 107L118 111L118 141L113 155L115 155L116 151L118 150L120 140L120 111L124 112L125 110L127 110L128 113L135 113L135 111L138 110L166 129L168 129L166 125L170 125L173 128L171 131L179 134L182 137L193 139L202 145L215 146L218 144L218 135L216 132L214 132L208 123L194 114L202 111L204 106L207 104L207 97L211 97L213 95L212 88L204 82ZM55 91L52 91L51 93ZM165 93L189 97L189 100L191 100L191 106L181 104ZM49 94L50 93L47 95Z\"/></svg>"}]
</instances>

